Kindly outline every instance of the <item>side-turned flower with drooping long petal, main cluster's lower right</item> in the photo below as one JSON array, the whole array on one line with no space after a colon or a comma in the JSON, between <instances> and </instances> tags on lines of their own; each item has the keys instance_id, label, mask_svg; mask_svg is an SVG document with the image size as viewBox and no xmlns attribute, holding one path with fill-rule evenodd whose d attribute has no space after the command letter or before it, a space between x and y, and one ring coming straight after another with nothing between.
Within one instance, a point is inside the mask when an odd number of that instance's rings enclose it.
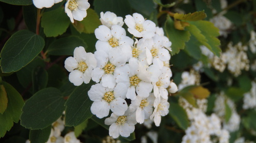
<instances>
[{"instance_id":1,"label":"side-turned flower with drooping long petal, main cluster's lower right","mask_svg":"<svg viewBox=\"0 0 256 143\"><path fill-rule=\"evenodd\" d=\"M150 119L153 120L156 126L160 126L161 116L166 116L169 112L169 103L167 99L163 99L162 97L156 98L154 101L154 111L150 116Z\"/></svg>"}]
</instances>

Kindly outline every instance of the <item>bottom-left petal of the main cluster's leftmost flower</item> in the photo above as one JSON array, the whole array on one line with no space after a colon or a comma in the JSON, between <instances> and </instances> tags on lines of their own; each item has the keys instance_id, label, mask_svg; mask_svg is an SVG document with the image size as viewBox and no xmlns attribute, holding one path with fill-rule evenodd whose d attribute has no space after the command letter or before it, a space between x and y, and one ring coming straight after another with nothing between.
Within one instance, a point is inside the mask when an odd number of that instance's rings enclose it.
<instances>
[{"instance_id":1,"label":"bottom-left petal of the main cluster's leftmost flower","mask_svg":"<svg viewBox=\"0 0 256 143\"><path fill-rule=\"evenodd\" d=\"M79 86L83 82L83 73L79 70L74 70L69 74L69 81L76 86Z\"/></svg>"}]
</instances>

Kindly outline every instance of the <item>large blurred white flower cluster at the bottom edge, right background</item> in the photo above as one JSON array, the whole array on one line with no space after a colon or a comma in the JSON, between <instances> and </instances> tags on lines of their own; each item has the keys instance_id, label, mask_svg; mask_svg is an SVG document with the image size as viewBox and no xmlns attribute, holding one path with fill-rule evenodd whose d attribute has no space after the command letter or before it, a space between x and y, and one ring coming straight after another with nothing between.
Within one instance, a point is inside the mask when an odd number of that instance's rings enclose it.
<instances>
[{"instance_id":1,"label":"large blurred white flower cluster at the bottom edge, right background","mask_svg":"<svg viewBox=\"0 0 256 143\"><path fill-rule=\"evenodd\" d=\"M212 113L207 116L204 112L207 107L207 100L197 100L199 108L193 107L186 99L180 98L179 104L186 110L191 125L185 130L182 137L184 142L228 142L229 132L221 127L221 120ZM212 138L211 136L216 136Z\"/></svg>"}]
</instances>

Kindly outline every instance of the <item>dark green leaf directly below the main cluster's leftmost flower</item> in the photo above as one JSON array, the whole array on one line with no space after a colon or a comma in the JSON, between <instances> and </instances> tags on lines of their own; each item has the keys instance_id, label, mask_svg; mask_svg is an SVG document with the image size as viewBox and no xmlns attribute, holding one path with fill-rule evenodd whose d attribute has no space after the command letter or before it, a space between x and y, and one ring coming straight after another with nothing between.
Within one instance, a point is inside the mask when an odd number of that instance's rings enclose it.
<instances>
[{"instance_id":1,"label":"dark green leaf directly below the main cluster's leftmost flower","mask_svg":"<svg viewBox=\"0 0 256 143\"><path fill-rule=\"evenodd\" d=\"M78 126L82 122L92 117L91 105L92 101L88 96L88 91L93 82L82 84L77 87L66 101L66 126Z\"/></svg>"}]
</instances>

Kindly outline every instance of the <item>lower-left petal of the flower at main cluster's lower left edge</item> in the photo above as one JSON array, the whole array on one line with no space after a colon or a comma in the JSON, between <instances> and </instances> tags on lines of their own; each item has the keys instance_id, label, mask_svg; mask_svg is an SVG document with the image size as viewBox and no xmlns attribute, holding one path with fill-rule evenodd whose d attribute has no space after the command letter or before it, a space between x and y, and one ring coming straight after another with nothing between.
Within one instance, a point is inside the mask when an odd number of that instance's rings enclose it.
<instances>
[{"instance_id":1,"label":"lower-left petal of the flower at main cluster's lower left edge","mask_svg":"<svg viewBox=\"0 0 256 143\"><path fill-rule=\"evenodd\" d=\"M107 117L110 112L109 103L105 100L93 102L91 106L91 111L93 115L96 115L98 118Z\"/></svg>"}]
</instances>

